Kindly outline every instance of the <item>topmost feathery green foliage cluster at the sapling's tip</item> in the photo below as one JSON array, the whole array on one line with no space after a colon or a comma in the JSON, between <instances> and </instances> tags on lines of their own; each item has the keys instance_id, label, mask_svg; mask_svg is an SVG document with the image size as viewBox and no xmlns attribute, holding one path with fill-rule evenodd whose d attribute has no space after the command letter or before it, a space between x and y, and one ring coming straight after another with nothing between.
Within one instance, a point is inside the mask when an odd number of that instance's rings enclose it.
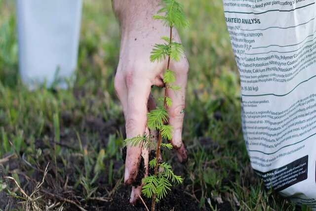
<instances>
[{"instance_id":1,"label":"topmost feathery green foliage cluster at the sapling's tip","mask_svg":"<svg viewBox=\"0 0 316 211\"><path fill-rule=\"evenodd\" d=\"M173 28L187 28L190 23L183 12L183 6L174 0L162 0L163 7L158 13L164 13L164 16L155 15L154 19L162 20L162 22Z\"/></svg>"}]
</instances>

